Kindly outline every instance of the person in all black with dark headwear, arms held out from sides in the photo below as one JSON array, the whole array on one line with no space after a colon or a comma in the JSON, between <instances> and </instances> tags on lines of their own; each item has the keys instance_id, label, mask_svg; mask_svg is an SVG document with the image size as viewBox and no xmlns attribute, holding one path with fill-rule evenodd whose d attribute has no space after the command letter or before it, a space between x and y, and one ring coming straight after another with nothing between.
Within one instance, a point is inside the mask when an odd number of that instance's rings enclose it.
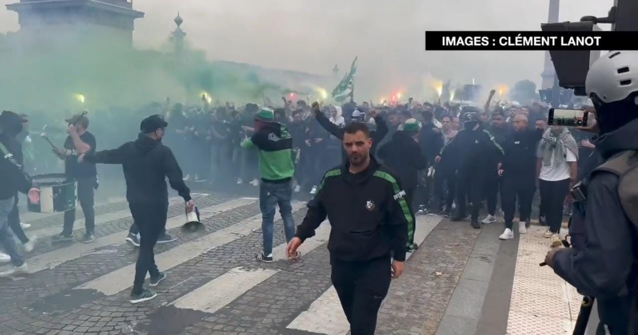
<instances>
[{"instance_id":1,"label":"person in all black with dark headwear, arms held out from sides","mask_svg":"<svg viewBox=\"0 0 638 335\"><path fill-rule=\"evenodd\" d=\"M466 204L469 199L471 225L480 229L479 210L484 199L484 182L489 175L496 171L494 157L503 155L503 148L494 140L486 129L479 123L478 110L473 107L463 108L464 128L435 158L436 162L455 159L457 179L457 213L452 221L464 220ZM453 157L457 155L457 157Z\"/></svg>"}]
</instances>

